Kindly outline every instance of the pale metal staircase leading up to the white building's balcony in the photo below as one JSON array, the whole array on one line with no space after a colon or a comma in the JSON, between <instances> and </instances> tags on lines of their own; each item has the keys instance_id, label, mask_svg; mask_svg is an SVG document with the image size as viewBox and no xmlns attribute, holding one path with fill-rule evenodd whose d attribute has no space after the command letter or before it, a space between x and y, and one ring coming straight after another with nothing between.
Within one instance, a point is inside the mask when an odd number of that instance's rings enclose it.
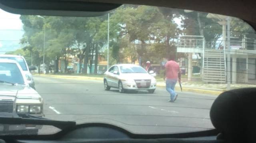
<instances>
[{"instance_id":1,"label":"pale metal staircase leading up to the white building's balcony","mask_svg":"<svg viewBox=\"0 0 256 143\"><path fill-rule=\"evenodd\" d=\"M225 50L204 49L203 81L207 83L226 83Z\"/></svg>"}]
</instances>

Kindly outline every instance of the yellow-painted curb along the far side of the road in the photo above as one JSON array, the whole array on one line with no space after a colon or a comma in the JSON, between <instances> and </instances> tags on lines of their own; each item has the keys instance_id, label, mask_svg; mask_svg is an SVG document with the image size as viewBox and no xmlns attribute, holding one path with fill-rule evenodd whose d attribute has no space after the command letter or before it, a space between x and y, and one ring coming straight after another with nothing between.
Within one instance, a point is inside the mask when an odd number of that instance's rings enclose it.
<instances>
[{"instance_id":1,"label":"yellow-painted curb along the far side of the road","mask_svg":"<svg viewBox=\"0 0 256 143\"><path fill-rule=\"evenodd\" d=\"M90 80L103 80L103 77L89 77L89 76L70 76L70 75L45 75L45 74L33 74L38 76L44 76L44 77L55 77L55 78L64 78L64 79L90 79ZM156 85L157 87L166 87L165 85ZM180 87L175 87L176 91L181 91ZM187 88L182 87L182 91L188 91L188 92L194 92L194 93L204 93L204 94L211 94L211 95L220 95L220 93L224 91L213 91L213 90L207 90L207 89L195 89L195 88Z\"/></svg>"}]
</instances>

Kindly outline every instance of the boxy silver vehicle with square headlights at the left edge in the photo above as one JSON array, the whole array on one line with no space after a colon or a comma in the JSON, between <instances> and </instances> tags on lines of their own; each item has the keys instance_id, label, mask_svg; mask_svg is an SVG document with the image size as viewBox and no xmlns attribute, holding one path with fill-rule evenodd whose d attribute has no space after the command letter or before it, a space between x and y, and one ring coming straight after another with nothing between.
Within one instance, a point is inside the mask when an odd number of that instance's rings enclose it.
<instances>
[{"instance_id":1,"label":"boxy silver vehicle with square headlights at the left edge","mask_svg":"<svg viewBox=\"0 0 256 143\"><path fill-rule=\"evenodd\" d=\"M43 99L29 86L15 60L0 58L0 112L43 116ZM41 125L9 125L8 130L37 130ZM5 129L6 130L6 129Z\"/></svg>"}]
</instances>

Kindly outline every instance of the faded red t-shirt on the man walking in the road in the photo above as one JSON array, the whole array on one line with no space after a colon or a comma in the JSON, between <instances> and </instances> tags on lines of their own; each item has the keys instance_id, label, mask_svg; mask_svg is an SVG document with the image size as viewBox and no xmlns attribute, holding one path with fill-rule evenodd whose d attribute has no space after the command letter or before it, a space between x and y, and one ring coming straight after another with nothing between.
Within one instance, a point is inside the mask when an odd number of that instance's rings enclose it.
<instances>
[{"instance_id":1,"label":"faded red t-shirt on the man walking in the road","mask_svg":"<svg viewBox=\"0 0 256 143\"><path fill-rule=\"evenodd\" d=\"M165 64L166 69L166 79L178 79L178 72L180 71L180 66L175 61L168 61Z\"/></svg>"}]
</instances>

